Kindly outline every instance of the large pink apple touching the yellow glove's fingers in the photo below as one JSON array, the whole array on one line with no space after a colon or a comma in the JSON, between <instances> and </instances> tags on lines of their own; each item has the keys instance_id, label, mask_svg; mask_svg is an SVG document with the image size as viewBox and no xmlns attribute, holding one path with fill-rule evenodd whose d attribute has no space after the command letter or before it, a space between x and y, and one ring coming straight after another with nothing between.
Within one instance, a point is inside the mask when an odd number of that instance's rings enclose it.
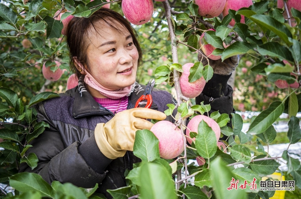
<instances>
[{"instance_id":1,"label":"large pink apple touching the yellow glove's fingers","mask_svg":"<svg viewBox=\"0 0 301 199\"><path fill-rule=\"evenodd\" d=\"M150 131L159 140L159 152L161 158L172 159L184 151L184 142L181 130L170 121L159 121L154 124Z\"/></svg>"}]
</instances>

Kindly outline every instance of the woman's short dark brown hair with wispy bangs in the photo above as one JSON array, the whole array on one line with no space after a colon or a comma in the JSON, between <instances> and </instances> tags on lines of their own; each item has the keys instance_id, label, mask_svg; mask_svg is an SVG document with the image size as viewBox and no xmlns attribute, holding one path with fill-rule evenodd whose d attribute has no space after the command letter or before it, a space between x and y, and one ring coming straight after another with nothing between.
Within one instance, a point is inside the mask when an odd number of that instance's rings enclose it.
<instances>
[{"instance_id":1,"label":"woman's short dark brown hair with wispy bangs","mask_svg":"<svg viewBox=\"0 0 301 199\"><path fill-rule=\"evenodd\" d=\"M90 45L88 38L89 30L94 28L95 32L101 35L101 33L99 33L100 31L98 31L99 28L95 25L100 20L107 23L110 27L117 31L121 31L120 28L118 28L118 23L126 28L131 34L133 43L138 50L138 66L142 61L142 50L138 42L138 36L135 29L116 11L108 8L100 8L89 18L73 17L67 27L66 37L70 56L70 70L75 73L78 78L83 75L76 68L74 59L77 60L77 63L82 64L82 66L87 66L87 70L89 71L89 61L87 57L87 49Z\"/></svg>"}]
</instances>

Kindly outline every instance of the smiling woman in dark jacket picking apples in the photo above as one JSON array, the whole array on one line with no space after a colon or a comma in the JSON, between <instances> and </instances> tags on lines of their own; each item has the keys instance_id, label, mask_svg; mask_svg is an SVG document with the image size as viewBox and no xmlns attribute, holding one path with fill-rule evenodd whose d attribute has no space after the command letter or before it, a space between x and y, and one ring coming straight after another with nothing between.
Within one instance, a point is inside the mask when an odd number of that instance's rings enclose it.
<instances>
[{"instance_id":1,"label":"smiling woman in dark jacket picking apples","mask_svg":"<svg viewBox=\"0 0 301 199\"><path fill-rule=\"evenodd\" d=\"M78 86L35 106L37 120L50 128L27 151L37 155L38 166L21 164L19 171L38 173L48 183L98 183L97 192L111 198L106 190L126 186L124 172L140 161L132 152L136 130L150 129L150 119L172 121L163 112L174 99L154 89L150 109L134 108L145 88L135 82L142 54L135 30L119 13L101 8L89 18L73 18L67 44Z\"/></svg>"}]
</instances>

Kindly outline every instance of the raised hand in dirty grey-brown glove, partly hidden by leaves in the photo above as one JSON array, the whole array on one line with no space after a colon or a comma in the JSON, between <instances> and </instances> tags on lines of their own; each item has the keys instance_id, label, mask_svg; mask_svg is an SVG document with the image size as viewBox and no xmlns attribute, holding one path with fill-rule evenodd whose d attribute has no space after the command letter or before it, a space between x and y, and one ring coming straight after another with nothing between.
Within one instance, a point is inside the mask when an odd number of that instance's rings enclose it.
<instances>
[{"instance_id":1,"label":"raised hand in dirty grey-brown glove, partly hidden by leaves","mask_svg":"<svg viewBox=\"0 0 301 199\"><path fill-rule=\"evenodd\" d=\"M234 40L230 43L235 42ZM203 52L201 52L203 54ZM202 62L204 66L208 65L208 61L200 52L198 53L198 60ZM202 59L203 58L203 59ZM209 59L209 58L208 58ZM238 66L239 55L234 55L225 59L223 62L221 59L212 60L209 59L209 65L213 68L213 73L220 75L230 75L233 71L235 71Z\"/></svg>"}]
</instances>

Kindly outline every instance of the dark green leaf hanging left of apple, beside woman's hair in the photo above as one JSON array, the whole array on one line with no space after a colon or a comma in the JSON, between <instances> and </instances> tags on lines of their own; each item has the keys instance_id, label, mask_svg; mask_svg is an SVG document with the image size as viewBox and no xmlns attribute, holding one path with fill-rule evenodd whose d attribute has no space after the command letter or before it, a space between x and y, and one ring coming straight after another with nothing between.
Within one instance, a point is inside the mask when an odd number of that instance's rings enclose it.
<instances>
[{"instance_id":1,"label":"dark green leaf hanging left of apple, beside woman's hair","mask_svg":"<svg viewBox=\"0 0 301 199\"><path fill-rule=\"evenodd\" d=\"M46 15L43 20L47 23L46 36L47 39L51 38L60 38L61 31L63 29L63 23L59 20L55 20L54 18Z\"/></svg>"}]
</instances>

